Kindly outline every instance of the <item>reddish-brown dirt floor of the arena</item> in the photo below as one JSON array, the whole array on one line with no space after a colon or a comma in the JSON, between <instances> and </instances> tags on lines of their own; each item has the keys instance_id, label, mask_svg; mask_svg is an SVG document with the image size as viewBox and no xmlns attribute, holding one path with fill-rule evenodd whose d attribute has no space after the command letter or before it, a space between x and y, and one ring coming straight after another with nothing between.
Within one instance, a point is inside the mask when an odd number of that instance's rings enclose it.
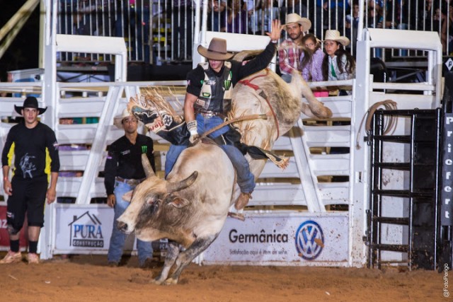
<instances>
[{"instance_id":1,"label":"reddish-brown dirt floor of the arena","mask_svg":"<svg viewBox=\"0 0 453 302\"><path fill-rule=\"evenodd\" d=\"M0 301L451 300L443 296L444 274L432 271L192 264L178 285L158 286L149 280L160 272L161 263L152 266L140 269L132 257L121 267L108 267L99 255L1 265Z\"/></svg>"}]
</instances>

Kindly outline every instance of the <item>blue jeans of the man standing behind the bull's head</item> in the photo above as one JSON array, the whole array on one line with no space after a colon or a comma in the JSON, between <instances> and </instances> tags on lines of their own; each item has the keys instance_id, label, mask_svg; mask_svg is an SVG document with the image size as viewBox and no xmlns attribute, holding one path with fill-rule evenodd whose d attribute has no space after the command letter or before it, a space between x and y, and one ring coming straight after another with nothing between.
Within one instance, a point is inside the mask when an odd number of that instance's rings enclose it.
<instances>
[{"instance_id":1,"label":"blue jeans of the man standing behind the bull's head","mask_svg":"<svg viewBox=\"0 0 453 302\"><path fill-rule=\"evenodd\" d=\"M117 219L124 213L126 208L129 206L130 202L125 202L122 199L122 195L125 193L134 190L134 187L127 185L125 182L115 182L115 198L116 204L113 208L115 211L115 216L113 218L113 230L112 230L112 237L110 237L110 246L108 247L108 254L107 260L108 262L117 262L119 263L122 256L122 249L125 245L125 240L127 238L127 234L122 233L116 227ZM145 260L148 258L152 258L153 249L151 247L151 242L145 242L142 240L137 239L137 250L139 254L139 265L143 266Z\"/></svg>"}]
</instances>

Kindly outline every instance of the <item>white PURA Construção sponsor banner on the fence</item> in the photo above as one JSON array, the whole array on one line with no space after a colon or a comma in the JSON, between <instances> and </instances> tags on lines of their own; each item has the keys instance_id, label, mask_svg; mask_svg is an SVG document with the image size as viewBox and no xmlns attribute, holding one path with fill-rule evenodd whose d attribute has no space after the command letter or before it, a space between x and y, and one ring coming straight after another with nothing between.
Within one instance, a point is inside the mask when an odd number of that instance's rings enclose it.
<instances>
[{"instance_id":1,"label":"white PURA Constru\u00e7\u00e3o sponsor banner on the fence","mask_svg":"<svg viewBox=\"0 0 453 302\"><path fill-rule=\"evenodd\" d=\"M108 250L113 209L60 205L56 212L55 250Z\"/></svg>"}]
</instances>

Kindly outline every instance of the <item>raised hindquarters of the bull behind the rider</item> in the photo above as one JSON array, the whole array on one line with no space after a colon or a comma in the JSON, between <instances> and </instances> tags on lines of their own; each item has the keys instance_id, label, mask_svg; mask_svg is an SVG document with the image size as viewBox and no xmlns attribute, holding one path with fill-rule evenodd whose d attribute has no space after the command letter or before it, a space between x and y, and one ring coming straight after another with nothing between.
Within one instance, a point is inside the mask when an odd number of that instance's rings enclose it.
<instances>
[{"instance_id":1,"label":"raised hindquarters of the bull behind the rider","mask_svg":"<svg viewBox=\"0 0 453 302\"><path fill-rule=\"evenodd\" d=\"M302 102L302 96L308 103ZM274 143L291 129L301 113L308 117L328 118L332 112L319 102L299 73L286 83L275 72L265 69L239 81L233 90L229 117L266 114L267 120L246 120L234 124L243 143L262 149L273 149ZM278 129L278 130L277 130ZM248 157L251 172L257 179L265 166L263 160Z\"/></svg>"}]
</instances>

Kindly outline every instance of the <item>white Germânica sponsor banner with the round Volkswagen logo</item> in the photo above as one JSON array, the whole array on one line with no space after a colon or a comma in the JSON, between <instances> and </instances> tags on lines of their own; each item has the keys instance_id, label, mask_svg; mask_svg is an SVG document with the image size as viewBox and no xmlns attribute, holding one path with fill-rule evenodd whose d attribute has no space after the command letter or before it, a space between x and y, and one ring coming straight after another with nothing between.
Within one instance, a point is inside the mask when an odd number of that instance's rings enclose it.
<instances>
[{"instance_id":1,"label":"white Germ\u00e2nica sponsor banner with the round Volkswagen logo","mask_svg":"<svg viewBox=\"0 0 453 302\"><path fill-rule=\"evenodd\" d=\"M247 216L226 219L206 262L345 262L348 216Z\"/></svg>"}]
</instances>

